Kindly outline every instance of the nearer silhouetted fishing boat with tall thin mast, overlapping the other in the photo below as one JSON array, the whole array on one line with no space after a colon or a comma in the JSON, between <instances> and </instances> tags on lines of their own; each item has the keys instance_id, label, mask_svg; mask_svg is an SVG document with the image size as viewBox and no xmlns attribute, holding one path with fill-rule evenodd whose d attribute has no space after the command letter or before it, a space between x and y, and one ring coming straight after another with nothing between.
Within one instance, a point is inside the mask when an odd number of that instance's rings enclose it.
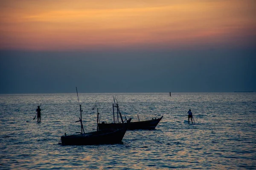
<instances>
[{"instance_id":1,"label":"nearer silhouetted fishing boat with tall thin mast, overlapping the other","mask_svg":"<svg viewBox=\"0 0 256 170\"><path fill-rule=\"evenodd\" d=\"M76 88L77 98L78 98L78 92ZM79 98L78 98L79 102ZM61 136L61 140L59 144L62 145L97 145L97 144L118 144L122 142L123 137L125 136L125 132L127 130L127 125L120 126L117 129L104 129L104 130L98 130L94 132L84 133L84 127L82 124L82 110L81 105L79 103L80 107L80 116L79 121L81 123L81 133L75 134L75 135L65 135ZM99 112L98 112L99 116ZM97 116L97 120L98 120ZM129 123L131 119L129 119L127 122ZM98 122L97 122L98 124Z\"/></svg>"}]
</instances>

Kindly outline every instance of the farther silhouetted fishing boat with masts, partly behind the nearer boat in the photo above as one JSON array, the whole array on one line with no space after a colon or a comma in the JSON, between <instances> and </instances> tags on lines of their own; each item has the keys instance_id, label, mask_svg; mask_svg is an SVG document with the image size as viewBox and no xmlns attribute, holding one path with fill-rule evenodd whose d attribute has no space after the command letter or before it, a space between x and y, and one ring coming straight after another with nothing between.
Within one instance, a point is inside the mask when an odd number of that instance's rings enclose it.
<instances>
[{"instance_id":1,"label":"farther silhouetted fishing boat with masts, partly behind the nearer boat","mask_svg":"<svg viewBox=\"0 0 256 170\"><path fill-rule=\"evenodd\" d=\"M113 99L114 99L114 97L113 97ZM152 120L140 121L139 116L138 116L139 122L129 122L127 124L126 116L125 116L125 121L122 119L122 114L120 112L117 99L116 99L116 101L114 99L114 103L115 103L115 105L113 104L113 119L114 119L113 123L106 123L106 122L99 123L98 124L99 130L111 129L111 128L119 129L123 125L126 125L128 130L137 130L137 129L154 130L155 127L160 122L160 120L163 118L163 116L162 116L160 118L152 118ZM117 108L117 123L115 122L114 108ZM120 117L122 123L119 122L119 117Z\"/></svg>"}]
</instances>

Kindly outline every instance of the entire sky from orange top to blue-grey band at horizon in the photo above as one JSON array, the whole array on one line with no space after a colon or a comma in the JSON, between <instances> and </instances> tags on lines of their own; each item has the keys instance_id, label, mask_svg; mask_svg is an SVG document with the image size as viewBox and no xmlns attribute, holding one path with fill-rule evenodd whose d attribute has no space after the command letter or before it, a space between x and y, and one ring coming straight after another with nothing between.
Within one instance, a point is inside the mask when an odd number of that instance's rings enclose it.
<instances>
[{"instance_id":1,"label":"entire sky from orange top to blue-grey band at horizon","mask_svg":"<svg viewBox=\"0 0 256 170\"><path fill-rule=\"evenodd\" d=\"M0 94L256 91L254 0L0 0Z\"/></svg>"}]
</instances>

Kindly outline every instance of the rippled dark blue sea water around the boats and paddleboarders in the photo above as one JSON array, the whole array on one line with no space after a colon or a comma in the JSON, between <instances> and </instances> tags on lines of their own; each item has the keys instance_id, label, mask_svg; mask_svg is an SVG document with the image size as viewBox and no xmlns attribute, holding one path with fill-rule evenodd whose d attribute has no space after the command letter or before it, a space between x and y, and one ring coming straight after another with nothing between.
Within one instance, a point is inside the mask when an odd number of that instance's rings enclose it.
<instances>
[{"instance_id":1,"label":"rippled dark blue sea water around the boats and paddleboarders","mask_svg":"<svg viewBox=\"0 0 256 170\"><path fill-rule=\"evenodd\" d=\"M80 132L76 93L0 95L0 169L256 169L256 93L79 94L85 131L96 130L96 100L113 122L112 95L132 121L163 119L122 144L62 146L64 133Z\"/></svg>"}]
</instances>

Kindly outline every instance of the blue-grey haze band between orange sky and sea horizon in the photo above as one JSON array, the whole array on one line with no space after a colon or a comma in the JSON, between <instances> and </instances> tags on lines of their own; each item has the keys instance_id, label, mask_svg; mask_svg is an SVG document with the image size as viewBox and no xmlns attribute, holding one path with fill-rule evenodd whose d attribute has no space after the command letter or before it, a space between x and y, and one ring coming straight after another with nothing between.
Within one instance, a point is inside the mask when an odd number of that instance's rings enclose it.
<instances>
[{"instance_id":1,"label":"blue-grey haze band between orange sky and sea horizon","mask_svg":"<svg viewBox=\"0 0 256 170\"><path fill-rule=\"evenodd\" d=\"M0 53L2 94L256 91L255 50Z\"/></svg>"}]
</instances>

